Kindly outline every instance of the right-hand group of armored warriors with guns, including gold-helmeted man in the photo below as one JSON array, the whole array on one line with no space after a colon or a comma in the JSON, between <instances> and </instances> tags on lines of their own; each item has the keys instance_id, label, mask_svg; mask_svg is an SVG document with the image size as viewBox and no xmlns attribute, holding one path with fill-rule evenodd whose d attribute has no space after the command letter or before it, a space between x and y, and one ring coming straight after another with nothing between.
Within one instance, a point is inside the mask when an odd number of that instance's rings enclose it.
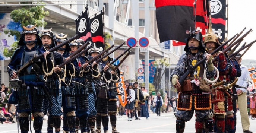
<instances>
[{"instance_id":1,"label":"right-hand group of armored warriors with guns, including gold-helmeted man","mask_svg":"<svg viewBox=\"0 0 256 133\"><path fill-rule=\"evenodd\" d=\"M184 133L185 123L191 120L194 111L196 133L236 132L236 101L232 100L242 95L236 94L239 87L243 88L236 85L241 69L238 60L228 56L231 49L219 43L210 27L204 40L201 32L187 31L186 53L181 55L171 73L171 82L178 90L178 110L174 113L176 133ZM197 63L195 69L189 69ZM182 77L185 77L184 82L180 82ZM247 128L243 129L244 133L252 133Z\"/></svg>"}]
</instances>

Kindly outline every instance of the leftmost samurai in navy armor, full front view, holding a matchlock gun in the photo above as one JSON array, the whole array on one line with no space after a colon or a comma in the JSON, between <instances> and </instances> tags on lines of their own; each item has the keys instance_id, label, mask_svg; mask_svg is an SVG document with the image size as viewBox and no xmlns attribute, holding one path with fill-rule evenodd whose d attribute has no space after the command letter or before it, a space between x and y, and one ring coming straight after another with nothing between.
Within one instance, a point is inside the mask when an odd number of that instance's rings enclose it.
<instances>
[{"instance_id":1,"label":"leftmost samurai in navy armor, full front view, holding a matchlock gun","mask_svg":"<svg viewBox=\"0 0 256 133\"><path fill-rule=\"evenodd\" d=\"M43 80L43 66L52 69L51 54L42 47L42 41L39 37L39 31L34 25L23 26L24 30L19 40L18 48L7 66L7 71L12 79L19 78L18 90L18 107L19 124L21 133L28 133L29 119L28 116L33 113L34 116L34 130L35 133L42 133L43 124L43 100L45 98L45 82ZM44 54L44 57L30 64L25 69L17 73L25 63L27 63L34 56ZM46 61L48 65L46 66ZM44 69L45 70L45 69Z\"/></svg>"}]
</instances>

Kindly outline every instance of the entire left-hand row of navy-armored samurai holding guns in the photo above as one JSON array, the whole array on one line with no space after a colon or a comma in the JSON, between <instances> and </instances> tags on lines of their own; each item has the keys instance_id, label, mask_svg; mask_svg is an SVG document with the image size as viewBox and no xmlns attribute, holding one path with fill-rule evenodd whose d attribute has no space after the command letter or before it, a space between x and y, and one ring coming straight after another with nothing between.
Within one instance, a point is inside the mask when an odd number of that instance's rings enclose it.
<instances>
[{"instance_id":1,"label":"entire left-hand row of navy-armored samurai holding guns","mask_svg":"<svg viewBox=\"0 0 256 133\"><path fill-rule=\"evenodd\" d=\"M91 45L86 47L87 52L70 60L74 57L72 53L85 45L82 39L57 47L68 40L67 35L61 33L54 36L51 29L39 35L35 26L23 26L18 43L20 48L7 66L12 79L10 84L16 86L18 93L17 111L21 133L28 133L31 113L35 133L42 133L43 116L47 111L48 133L53 133L54 129L55 133L60 133L61 115L64 133L78 133L79 127L82 133L101 133L101 130L108 133L109 121L111 132L119 133L116 130L115 89L119 70L115 69L117 66L108 65L112 58L107 56L97 61L102 51ZM57 49L49 52L54 47ZM31 61L34 57L37 60ZM20 70L28 62L30 64Z\"/></svg>"}]
</instances>

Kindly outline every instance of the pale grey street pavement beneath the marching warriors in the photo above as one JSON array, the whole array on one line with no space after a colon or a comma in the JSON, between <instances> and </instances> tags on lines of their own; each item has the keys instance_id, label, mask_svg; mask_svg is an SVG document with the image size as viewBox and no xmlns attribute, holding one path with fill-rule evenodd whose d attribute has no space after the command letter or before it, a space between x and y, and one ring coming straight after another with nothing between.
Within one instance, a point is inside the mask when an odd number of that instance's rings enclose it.
<instances>
[{"instance_id":1,"label":"pale grey street pavement beneath the marching warriors","mask_svg":"<svg viewBox=\"0 0 256 133\"><path fill-rule=\"evenodd\" d=\"M155 113L150 113L150 117L147 120L143 118L142 120L127 121L127 116L123 117L117 116L117 130L120 133L176 133L176 118L173 112L161 113L161 116L157 116ZM195 113L194 113L195 115ZM256 133L256 119L250 119L250 130ZM33 121L31 123L33 125ZM62 121L61 121L62 127ZM34 132L33 127L31 128ZM103 129L103 127L102 127ZM109 124L109 131L111 133L111 124ZM20 129L19 129L20 132ZM17 123L13 124L0 124L0 133L18 133ZM29 131L30 133L30 131ZM42 133L47 133L47 120L44 120ZM62 133L62 128L61 132ZM79 131L79 133L81 133ZM104 133L102 131L102 133ZM189 122L186 123L186 128L184 133L195 133L195 117L193 117ZM236 133L243 133L241 126L240 112L237 112L237 130Z\"/></svg>"}]
</instances>

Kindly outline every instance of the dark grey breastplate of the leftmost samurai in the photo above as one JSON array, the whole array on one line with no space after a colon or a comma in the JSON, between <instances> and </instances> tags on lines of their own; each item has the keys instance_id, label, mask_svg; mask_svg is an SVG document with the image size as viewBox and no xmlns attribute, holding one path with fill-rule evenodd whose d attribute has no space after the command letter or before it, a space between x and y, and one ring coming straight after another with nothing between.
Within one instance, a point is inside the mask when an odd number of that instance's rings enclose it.
<instances>
[{"instance_id":1,"label":"dark grey breastplate of the leftmost samurai","mask_svg":"<svg viewBox=\"0 0 256 133\"><path fill-rule=\"evenodd\" d=\"M38 56L37 50L29 51L29 52L23 51L20 65L23 66L26 62L28 62L30 59L32 59L35 56ZM40 61L40 59L39 59L39 61ZM32 68L32 64L25 69L25 75L31 74L31 68Z\"/></svg>"}]
</instances>

